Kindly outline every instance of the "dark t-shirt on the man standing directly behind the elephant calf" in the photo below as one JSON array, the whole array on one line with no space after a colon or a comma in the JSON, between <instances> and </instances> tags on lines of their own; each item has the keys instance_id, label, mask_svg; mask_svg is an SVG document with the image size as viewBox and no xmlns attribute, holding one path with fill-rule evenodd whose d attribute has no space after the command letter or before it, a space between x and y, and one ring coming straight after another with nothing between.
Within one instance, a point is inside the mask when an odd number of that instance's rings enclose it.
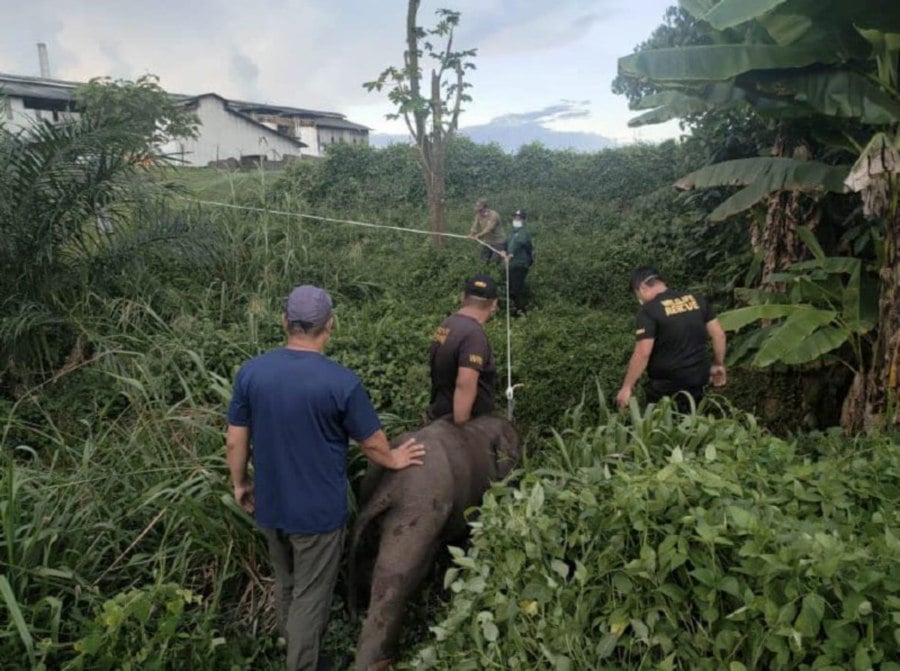
<instances>
[{"instance_id":1,"label":"dark t-shirt on the man standing directly behind the elephant calf","mask_svg":"<svg viewBox=\"0 0 900 671\"><path fill-rule=\"evenodd\" d=\"M453 413L453 392L460 368L473 368L479 372L472 417L486 415L494 409L497 368L487 334L476 319L459 313L447 317L431 338L428 358L431 364L430 417Z\"/></svg>"}]
</instances>

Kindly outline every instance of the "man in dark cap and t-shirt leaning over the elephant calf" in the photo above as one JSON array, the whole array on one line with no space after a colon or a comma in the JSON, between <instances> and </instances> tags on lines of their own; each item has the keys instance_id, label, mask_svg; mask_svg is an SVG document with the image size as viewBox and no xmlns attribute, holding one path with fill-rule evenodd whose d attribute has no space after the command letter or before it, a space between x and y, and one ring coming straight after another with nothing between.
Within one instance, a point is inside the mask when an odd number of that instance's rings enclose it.
<instances>
[{"instance_id":1,"label":"man in dark cap and t-shirt leaning over the elephant calf","mask_svg":"<svg viewBox=\"0 0 900 671\"><path fill-rule=\"evenodd\" d=\"M429 419L453 415L462 424L494 409L497 367L483 324L497 311L497 285L487 275L466 280L462 307L431 339Z\"/></svg>"}]
</instances>

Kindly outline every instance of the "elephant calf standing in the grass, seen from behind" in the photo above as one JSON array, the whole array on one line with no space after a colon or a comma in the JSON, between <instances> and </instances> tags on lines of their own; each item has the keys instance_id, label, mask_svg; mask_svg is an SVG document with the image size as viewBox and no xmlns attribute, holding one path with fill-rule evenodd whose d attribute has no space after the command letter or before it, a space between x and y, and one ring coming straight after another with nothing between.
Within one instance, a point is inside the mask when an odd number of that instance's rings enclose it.
<instances>
[{"instance_id":1,"label":"elephant calf standing in the grass, seen from behind","mask_svg":"<svg viewBox=\"0 0 900 671\"><path fill-rule=\"evenodd\" d=\"M465 538L464 512L481 503L493 480L519 461L512 424L483 416L456 425L439 419L394 439L415 436L425 445L424 464L402 471L370 465L363 478L362 508L350 545L350 594L355 594L356 550L366 528L380 528L372 570L369 611L356 646L355 668L385 668L400 636L406 600L431 568L437 550Z\"/></svg>"}]
</instances>

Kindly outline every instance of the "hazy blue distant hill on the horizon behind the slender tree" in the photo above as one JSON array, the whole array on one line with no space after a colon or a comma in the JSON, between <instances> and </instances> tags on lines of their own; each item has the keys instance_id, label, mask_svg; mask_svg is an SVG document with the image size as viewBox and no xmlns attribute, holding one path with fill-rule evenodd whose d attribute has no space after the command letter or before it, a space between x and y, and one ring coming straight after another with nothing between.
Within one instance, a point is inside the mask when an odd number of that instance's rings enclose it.
<instances>
[{"instance_id":1,"label":"hazy blue distant hill on the horizon behind the slender tree","mask_svg":"<svg viewBox=\"0 0 900 671\"><path fill-rule=\"evenodd\" d=\"M574 151L592 152L614 147L616 143L596 133L564 132L547 128L540 123L510 123L505 117L494 119L480 126L460 128L460 135L465 135L479 144L496 142L504 151L515 153L520 147L532 142L540 142L548 149L572 149ZM369 142L376 147L385 147L394 142L408 142L407 135L388 135L371 133Z\"/></svg>"}]
</instances>

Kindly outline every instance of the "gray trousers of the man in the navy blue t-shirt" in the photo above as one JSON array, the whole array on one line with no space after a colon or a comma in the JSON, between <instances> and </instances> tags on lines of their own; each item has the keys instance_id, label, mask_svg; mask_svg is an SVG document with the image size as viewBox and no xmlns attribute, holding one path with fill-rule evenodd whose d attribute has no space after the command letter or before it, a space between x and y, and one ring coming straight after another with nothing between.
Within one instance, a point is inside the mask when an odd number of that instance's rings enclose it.
<instances>
[{"instance_id":1,"label":"gray trousers of the man in the navy blue t-shirt","mask_svg":"<svg viewBox=\"0 0 900 671\"><path fill-rule=\"evenodd\" d=\"M262 532L275 569L275 609L287 640L287 669L313 671L328 624L344 529L309 536L274 529Z\"/></svg>"}]
</instances>

